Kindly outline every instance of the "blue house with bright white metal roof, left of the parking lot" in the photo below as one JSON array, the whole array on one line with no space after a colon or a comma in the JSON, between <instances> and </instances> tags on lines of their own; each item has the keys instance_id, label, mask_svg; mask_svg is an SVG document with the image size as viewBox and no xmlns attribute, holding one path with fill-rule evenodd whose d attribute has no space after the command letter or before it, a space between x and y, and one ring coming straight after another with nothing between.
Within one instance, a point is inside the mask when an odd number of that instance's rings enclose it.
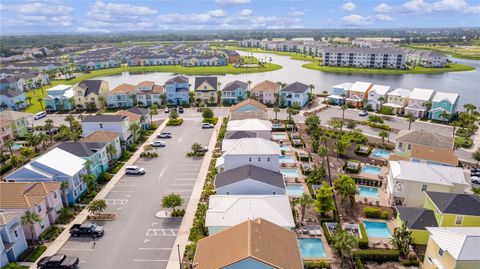
<instances>
[{"instance_id":1,"label":"blue house with bright white metal roof, left of the parking lot","mask_svg":"<svg viewBox=\"0 0 480 269\"><path fill-rule=\"evenodd\" d=\"M59 165L59 160L62 165ZM82 180L82 175L87 173L85 163L80 157L54 148L5 176L5 181L67 182L66 200L74 203L87 191L87 185Z\"/></svg>"}]
</instances>

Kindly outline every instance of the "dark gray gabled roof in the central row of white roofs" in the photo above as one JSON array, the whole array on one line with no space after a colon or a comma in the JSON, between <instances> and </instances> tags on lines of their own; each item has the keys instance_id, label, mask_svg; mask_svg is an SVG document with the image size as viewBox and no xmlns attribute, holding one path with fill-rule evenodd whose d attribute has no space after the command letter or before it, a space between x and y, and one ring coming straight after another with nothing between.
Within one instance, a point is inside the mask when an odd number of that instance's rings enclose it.
<instances>
[{"instance_id":1,"label":"dark gray gabled roof in the central row of white roofs","mask_svg":"<svg viewBox=\"0 0 480 269\"><path fill-rule=\"evenodd\" d=\"M285 188L281 173L249 164L218 174L215 179L215 187L230 185L248 178L278 188Z\"/></svg>"}]
</instances>

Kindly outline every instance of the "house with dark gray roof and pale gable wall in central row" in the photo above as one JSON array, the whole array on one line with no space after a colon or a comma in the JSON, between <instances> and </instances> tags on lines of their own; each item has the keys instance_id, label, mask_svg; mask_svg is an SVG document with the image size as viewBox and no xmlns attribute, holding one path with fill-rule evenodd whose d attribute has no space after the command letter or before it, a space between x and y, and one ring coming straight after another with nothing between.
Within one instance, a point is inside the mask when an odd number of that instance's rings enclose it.
<instances>
[{"instance_id":1,"label":"house with dark gray roof and pale gable wall in central row","mask_svg":"<svg viewBox=\"0 0 480 269\"><path fill-rule=\"evenodd\" d=\"M244 165L217 174L215 190L219 195L284 195L285 182L279 172Z\"/></svg>"}]
</instances>

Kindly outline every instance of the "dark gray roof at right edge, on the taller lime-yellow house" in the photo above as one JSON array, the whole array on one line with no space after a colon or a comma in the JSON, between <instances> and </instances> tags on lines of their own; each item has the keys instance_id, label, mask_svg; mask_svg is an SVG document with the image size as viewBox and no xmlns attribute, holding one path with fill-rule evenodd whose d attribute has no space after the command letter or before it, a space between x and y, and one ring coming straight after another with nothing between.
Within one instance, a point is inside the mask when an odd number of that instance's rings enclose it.
<instances>
[{"instance_id":1,"label":"dark gray roof at right edge, on the taller lime-yellow house","mask_svg":"<svg viewBox=\"0 0 480 269\"><path fill-rule=\"evenodd\" d=\"M433 191L427 191L427 195L442 213L480 216L478 195Z\"/></svg>"}]
</instances>

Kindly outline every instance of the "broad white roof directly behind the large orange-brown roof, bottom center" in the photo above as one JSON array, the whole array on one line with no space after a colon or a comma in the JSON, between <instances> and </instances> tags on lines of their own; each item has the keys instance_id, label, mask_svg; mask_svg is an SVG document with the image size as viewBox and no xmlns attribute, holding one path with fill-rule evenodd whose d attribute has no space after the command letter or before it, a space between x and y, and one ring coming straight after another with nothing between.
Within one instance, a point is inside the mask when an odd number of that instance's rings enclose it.
<instances>
[{"instance_id":1,"label":"broad white roof directly behind the large orange-brown roof, bottom center","mask_svg":"<svg viewBox=\"0 0 480 269\"><path fill-rule=\"evenodd\" d=\"M295 227L286 195L212 195L205 226L230 227L256 218L281 227Z\"/></svg>"}]
</instances>

